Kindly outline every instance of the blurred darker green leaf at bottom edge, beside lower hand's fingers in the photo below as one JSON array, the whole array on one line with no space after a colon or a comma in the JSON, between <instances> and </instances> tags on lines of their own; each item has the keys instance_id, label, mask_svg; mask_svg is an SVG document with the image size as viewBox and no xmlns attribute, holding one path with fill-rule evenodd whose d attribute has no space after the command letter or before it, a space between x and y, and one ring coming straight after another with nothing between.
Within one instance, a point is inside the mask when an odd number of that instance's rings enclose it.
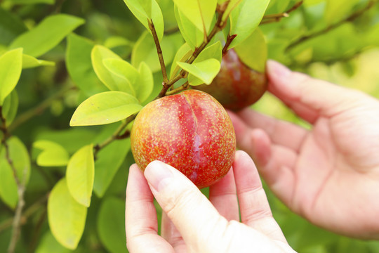
<instances>
[{"instance_id":1,"label":"blurred darker green leaf at bottom edge, beside lower hand's fingers","mask_svg":"<svg viewBox=\"0 0 379 253\"><path fill-rule=\"evenodd\" d=\"M98 235L109 252L128 252L125 234L125 202L109 197L102 202L98 214Z\"/></svg>"}]
</instances>

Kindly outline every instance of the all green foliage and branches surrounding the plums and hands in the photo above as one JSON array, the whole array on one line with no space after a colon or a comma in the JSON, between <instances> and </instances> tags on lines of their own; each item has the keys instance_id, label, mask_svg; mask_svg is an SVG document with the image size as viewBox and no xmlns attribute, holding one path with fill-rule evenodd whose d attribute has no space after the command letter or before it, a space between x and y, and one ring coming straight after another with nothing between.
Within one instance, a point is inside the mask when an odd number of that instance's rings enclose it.
<instances>
[{"instance_id":1,"label":"all green foliage and branches surrounding the plums and hands","mask_svg":"<svg viewBox=\"0 0 379 253\"><path fill-rule=\"evenodd\" d=\"M128 136L144 105L210 84L229 48L255 70L272 58L340 82L378 34L375 0L0 1L0 251L126 252ZM253 107L308 127L268 93ZM295 250L379 251L267 193Z\"/></svg>"}]
</instances>

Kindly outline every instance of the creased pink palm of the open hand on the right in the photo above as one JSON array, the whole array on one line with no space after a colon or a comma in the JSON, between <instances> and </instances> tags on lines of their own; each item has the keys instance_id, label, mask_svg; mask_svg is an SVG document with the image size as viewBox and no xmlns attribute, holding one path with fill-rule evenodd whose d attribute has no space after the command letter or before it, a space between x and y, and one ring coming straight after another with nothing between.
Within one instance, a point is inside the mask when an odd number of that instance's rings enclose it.
<instances>
[{"instance_id":1,"label":"creased pink palm of the open hand on the right","mask_svg":"<svg viewBox=\"0 0 379 253\"><path fill-rule=\"evenodd\" d=\"M347 234L355 232L350 228L367 231L372 226L375 216L367 214L378 199L379 128L372 126L375 112L370 117L368 108L361 108L366 115L359 109L317 119L294 164L289 200L310 221Z\"/></svg>"}]
</instances>

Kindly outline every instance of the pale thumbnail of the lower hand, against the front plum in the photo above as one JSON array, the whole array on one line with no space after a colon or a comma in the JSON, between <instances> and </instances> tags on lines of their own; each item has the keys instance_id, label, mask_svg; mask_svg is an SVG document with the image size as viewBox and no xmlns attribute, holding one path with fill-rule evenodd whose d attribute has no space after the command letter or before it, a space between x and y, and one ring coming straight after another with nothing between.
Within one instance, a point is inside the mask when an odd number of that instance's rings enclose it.
<instances>
[{"instance_id":1,"label":"pale thumbnail of the lower hand, against the front plum","mask_svg":"<svg viewBox=\"0 0 379 253\"><path fill-rule=\"evenodd\" d=\"M145 169L147 182L158 192L165 188L173 178L173 173L164 162L150 162Z\"/></svg>"}]
</instances>

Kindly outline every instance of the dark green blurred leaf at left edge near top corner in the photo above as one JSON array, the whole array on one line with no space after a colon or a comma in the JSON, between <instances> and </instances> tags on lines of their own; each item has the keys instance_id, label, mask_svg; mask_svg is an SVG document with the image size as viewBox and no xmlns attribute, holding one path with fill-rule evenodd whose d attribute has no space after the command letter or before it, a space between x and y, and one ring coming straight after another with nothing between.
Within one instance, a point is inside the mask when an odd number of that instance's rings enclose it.
<instances>
[{"instance_id":1,"label":"dark green blurred leaf at left edge near top corner","mask_svg":"<svg viewBox=\"0 0 379 253\"><path fill-rule=\"evenodd\" d=\"M18 15L0 8L0 44L8 45L27 28Z\"/></svg>"}]
</instances>

